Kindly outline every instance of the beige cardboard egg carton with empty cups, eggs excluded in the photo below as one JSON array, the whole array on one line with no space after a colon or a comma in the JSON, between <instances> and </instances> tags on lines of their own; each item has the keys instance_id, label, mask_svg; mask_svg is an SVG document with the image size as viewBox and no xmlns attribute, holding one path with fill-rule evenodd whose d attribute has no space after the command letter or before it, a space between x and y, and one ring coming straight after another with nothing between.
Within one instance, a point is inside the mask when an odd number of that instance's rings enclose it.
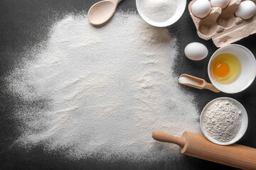
<instances>
[{"instance_id":1,"label":"beige cardboard egg carton with empty cups, eggs excluded","mask_svg":"<svg viewBox=\"0 0 256 170\"><path fill-rule=\"evenodd\" d=\"M223 9L212 7L205 18L193 15L191 6L195 1L188 4L188 11L195 23L198 36L204 40L211 38L216 47L223 47L256 33L256 13L247 20L235 16L241 0L230 0L228 6Z\"/></svg>"}]
</instances>

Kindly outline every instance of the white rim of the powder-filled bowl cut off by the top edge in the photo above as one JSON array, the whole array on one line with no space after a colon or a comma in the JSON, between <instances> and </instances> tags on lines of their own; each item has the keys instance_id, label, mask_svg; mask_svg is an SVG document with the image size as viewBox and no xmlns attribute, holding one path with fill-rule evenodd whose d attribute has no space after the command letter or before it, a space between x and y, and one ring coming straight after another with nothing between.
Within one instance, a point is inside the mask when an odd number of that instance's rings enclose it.
<instances>
[{"instance_id":1,"label":"white rim of the powder-filled bowl cut off by the top edge","mask_svg":"<svg viewBox=\"0 0 256 170\"><path fill-rule=\"evenodd\" d=\"M183 2L183 6L177 6L177 9L178 10L181 10L181 14L177 17L176 20L171 20L171 18L169 18L169 20L166 20L164 22L154 22L154 21L151 21L149 18L147 18L142 9L141 9L141 6L140 6L140 1L142 0L136 0L136 7L137 7L137 11L139 12L139 16L142 17L142 19L146 22L146 23L149 23L151 26L155 26L155 27L166 27L166 26L171 26L172 24L176 23L176 21L178 21L181 16L183 15L185 9L186 9L186 0L181 0L181 1L184 1ZM182 8L181 8L182 7ZM169 22L167 22L169 21Z\"/></svg>"}]
</instances>

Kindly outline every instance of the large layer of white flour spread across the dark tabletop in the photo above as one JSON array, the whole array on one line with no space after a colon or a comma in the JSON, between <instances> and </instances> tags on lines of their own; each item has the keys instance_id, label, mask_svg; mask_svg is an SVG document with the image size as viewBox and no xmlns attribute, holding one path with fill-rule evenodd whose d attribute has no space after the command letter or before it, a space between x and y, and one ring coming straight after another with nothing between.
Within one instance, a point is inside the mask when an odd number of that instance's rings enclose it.
<instances>
[{"instance_id":1,"label":"large layer of white flour spread across the dark tabletop","mask_svg":"<svg viewBox=\"0 0 256 170\"><path fill-rule=\"evenodd\" d=\"M36 60L6 79L24 103L47 101L16 108L21 146L65 149L72 159L161 159L180 155L179 147L154 141L154 130L200 132L193 96L172 74L176 39L166 30L116 13L102 28L68 16L50 33Z\"/></svg>"}]
</instances>

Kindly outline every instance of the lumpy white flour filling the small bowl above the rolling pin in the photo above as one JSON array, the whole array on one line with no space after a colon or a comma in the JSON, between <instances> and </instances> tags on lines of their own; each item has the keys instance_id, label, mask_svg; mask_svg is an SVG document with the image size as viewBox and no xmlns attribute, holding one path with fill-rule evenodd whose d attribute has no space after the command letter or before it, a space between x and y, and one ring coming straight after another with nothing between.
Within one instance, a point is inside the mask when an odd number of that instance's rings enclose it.
<instances>
[{"instance_id":1,"label":"lumpy white flour filling the small bowl above the rolling pin","mask_svg":"<svg viewBox=\"0 0 256 170\"><path fill-rule=\"evenodd\" d=\"M229 100L213 101L203 113L202 125L210 137L220 142L229 142L238 134L242 124L242 113Z\"/></svg>"}]
</instances>

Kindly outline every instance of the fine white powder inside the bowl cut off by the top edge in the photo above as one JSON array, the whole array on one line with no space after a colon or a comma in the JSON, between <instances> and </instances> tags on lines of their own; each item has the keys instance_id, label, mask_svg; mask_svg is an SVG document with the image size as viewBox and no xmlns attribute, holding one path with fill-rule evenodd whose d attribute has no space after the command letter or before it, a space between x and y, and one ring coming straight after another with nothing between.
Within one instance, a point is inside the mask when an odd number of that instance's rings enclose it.
<instances>
[{"instance_id":1,"label":"fine white powder inside the bowl cut off by the top edge","mask_svg":"<svg viewBox=\"0 0 256 170\"><path fill-rule=\"evenodd\" d=\"M174 0L142 0L142 11L151 21L164 22L169 20L177 9Z\"/></svg>"}]
</instances>

